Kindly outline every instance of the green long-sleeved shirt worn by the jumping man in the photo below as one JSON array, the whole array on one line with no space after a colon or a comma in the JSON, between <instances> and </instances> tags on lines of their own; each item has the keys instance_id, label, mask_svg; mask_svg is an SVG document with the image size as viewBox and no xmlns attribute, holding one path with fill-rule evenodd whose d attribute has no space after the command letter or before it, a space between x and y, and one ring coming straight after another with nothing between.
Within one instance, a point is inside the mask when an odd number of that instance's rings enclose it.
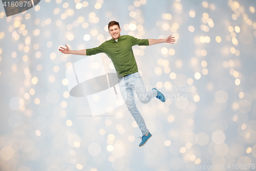
<instances>
[{"instance_id":1,"label":"green long-sleeved shirt worn by the jumping man","mask_svg":"<svg viewBox=\"0 0 256 171\"><path fill-rule=\"evenodd\" d=\"M117 77L123 77L135 72L138 72L138 66L134 58L133 49L134 45L148 46L148 39L137 39L133 36L124 35L118 37L118 40L107 40L98 47L88 48L86 55L95 55L105 53L112 60Z\"/></svg>"}]
</instances>

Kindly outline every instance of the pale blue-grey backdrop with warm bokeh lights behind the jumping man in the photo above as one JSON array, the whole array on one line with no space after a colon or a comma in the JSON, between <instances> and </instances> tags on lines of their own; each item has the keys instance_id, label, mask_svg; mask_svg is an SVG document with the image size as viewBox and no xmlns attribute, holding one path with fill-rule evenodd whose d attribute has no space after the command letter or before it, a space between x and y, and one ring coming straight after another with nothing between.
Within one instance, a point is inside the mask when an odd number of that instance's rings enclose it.
<instances>
[{"instance_id":1,"label":"pale blue-grey backdrop with warm bokeh lights behind the jumping man","mask_svg":"<svg viewBox=\"0 0 256 171\"><path fill-rule=\"evenodd\" d=\"M255 7L252 0L41 0L6 17L1 5L1 170L256 164ZM109 40L111 20L121 35L176 38L133 47L145 85L169 95L165 103L136 101L153 134L140 148L141 132L125 105L90 117L86 98L69 95L65 71L84 56L58 52L65 44L80 50Z\"/></svg>"}]
</instances>

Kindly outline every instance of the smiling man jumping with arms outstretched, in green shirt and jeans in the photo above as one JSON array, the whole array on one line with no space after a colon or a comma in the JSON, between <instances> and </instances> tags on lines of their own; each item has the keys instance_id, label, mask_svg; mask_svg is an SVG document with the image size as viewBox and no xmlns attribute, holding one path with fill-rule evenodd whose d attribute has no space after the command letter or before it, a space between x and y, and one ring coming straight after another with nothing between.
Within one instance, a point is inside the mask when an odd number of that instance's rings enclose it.
<instances>
[{"instance_id":1,"label":"smiling man jumping with arms outstretched, in green shirt and jeans","mask_svg":"<svg viewBox=\"0 0 256 171\"><path fill-rule=\"evenodd\" d=\"M147 140L152 136L147 130L145 121L136 107L134 100L134 90L136 91L139 100L142 103L150 102L154 97L157 97L162 102L165 102L164 95L156 88L146 91L144 83L138 72L137 63L133 54L132 46L134 45L153 45L158 43L174 43L175 39L168 36L165 39L137 39L133 36L121 36L121 28L119 23L111 21L109 23L109 33L112 37L111 40L105 41L98 47L84 49L80 51L71 51L67 48L60 47L59 51L63 54L73 55L95 55L98 53L105 53L112 60L118 77L118 85L123 97L123 100L138 124L141 132L141 142L139 146L144 145Z\"/></svg>"}]
</instances>

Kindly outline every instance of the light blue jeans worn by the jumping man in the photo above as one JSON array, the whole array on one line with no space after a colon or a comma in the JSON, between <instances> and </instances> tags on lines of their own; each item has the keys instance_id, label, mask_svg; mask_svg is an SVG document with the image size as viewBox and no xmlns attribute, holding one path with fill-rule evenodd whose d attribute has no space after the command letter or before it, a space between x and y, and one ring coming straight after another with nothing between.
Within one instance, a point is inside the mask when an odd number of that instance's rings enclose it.
<instances>
[{"instance_id":1,"label":"light blue jeans worn by the jumping man","mask_svg":"<svg viewBox=\"0 0 256 171\"><path fill-rule=\"evenodd\" d=\"M148 130L146 128L145 121L135 104L133 90L136 91L140 102L144 104L150 102L155 96L157 96L157 90L146 91L139 72L118 78L118 85L123 97L123 101L138 124L142 135L147 134Z\"/></svg>"}]
</instances>

